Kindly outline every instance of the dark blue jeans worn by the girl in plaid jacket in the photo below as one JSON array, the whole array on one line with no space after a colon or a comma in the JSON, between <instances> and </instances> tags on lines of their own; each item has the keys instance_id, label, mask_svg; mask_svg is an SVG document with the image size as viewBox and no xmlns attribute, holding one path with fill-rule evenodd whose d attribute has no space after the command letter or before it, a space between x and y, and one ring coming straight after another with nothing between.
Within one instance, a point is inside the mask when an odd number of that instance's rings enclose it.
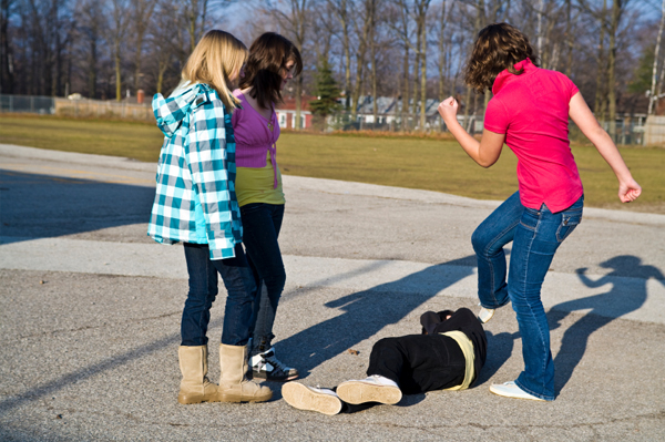
<instances>
[{"instance_id":1,"label":"dark blue jeans worn by the girl in plaid jacket","mask_svg":"<svg viewBox=\"0 0 665 442\"><path fill-rule=\"evenodd\" d=\"M190 274L190 292L181 322L181 346L205 346L211 308L217 297L217 274L226 287L226 307L222 343L245 346L249 339L252 306L256 285L243 247L235 247L235 258L211 260L207 244L185 243Z\"/></svg>"}]
</instances>

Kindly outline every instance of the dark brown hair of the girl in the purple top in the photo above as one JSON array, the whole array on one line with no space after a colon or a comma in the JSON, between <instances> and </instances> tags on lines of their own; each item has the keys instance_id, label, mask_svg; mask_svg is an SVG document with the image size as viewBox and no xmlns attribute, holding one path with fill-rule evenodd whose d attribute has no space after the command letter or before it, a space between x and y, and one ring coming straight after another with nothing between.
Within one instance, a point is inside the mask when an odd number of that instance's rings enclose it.
<instances>
[{"instance_id":1,"label":"dark brown hair of the girl in the purple top","mask_svg":"<svg viewBox=\"0 0 665 442\"><path fill-rule=\"evenodd\" d=\"M249 48L241 89L252 88L249 95L263 109L282 103L282 72L286 71L289 61L294 62L294 76L303 72L300 51L290 40L276 32L262 34Z\"/></svg>"}]
</instances>

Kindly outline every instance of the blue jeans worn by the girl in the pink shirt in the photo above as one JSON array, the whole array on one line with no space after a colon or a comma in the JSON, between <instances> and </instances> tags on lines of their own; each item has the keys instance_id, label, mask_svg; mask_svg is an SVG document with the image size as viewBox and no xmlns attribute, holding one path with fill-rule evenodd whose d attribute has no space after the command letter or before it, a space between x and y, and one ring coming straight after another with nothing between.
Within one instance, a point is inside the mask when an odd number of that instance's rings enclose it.
<instances>
[{"instance_id":1,"label":"blue jeans worn by the girl in the pink shirt","mask_svg":"<svg viewBox=\"0 0 665 442\"><path fill-rule=\"evenodd\" d=\"M471 237L478 257L480 304L495 309L512 302L522 335L524 371L515 383L538 398L554 400L554 361L550 327L541 301L541 287L554 253L582 220L584 196L565 210L553 214L524 207L514 193L499 206ZM503 246L513 241L508 284Z\"/></svg>"}]
</instances>

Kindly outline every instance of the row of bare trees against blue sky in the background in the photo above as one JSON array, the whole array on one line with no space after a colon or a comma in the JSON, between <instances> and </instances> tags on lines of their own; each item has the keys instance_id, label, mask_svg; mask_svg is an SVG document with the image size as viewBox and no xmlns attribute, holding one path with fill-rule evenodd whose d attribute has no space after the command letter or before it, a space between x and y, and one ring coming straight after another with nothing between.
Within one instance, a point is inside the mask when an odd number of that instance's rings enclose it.
<instances>
[{"instance_id":1,"label":"row of bare trees against blue sky in the background","mask_svg":"<svg viewBox=\"0 0 665 442\"><path fill-rule=\"evenodd\" d=\"M0 93L121 100L139 89L164 92L207 29L246 43L275 30L304 55L290 91L298 109L306 93L317 94L318 68L329 65L351 114L364 95L400 96L410 103L401 112L419 114L423 127L426 99L458 95L467 115L484 109L490 93L462 84L464 60L481 28L507 21L530 37L543 68L571 76L598 120L612 123L617 103L646 112L645 92L662 94L662 7L665 0L0 0Z\"/></svg>"}]
</instances>

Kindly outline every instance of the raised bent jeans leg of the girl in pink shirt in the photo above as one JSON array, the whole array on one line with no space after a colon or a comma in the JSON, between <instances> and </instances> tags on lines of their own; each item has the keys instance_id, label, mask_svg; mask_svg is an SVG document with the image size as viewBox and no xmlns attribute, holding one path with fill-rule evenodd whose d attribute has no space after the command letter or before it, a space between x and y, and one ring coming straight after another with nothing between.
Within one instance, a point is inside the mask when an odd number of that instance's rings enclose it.
<instances>
[{"instance_id":1,"label":"raised bent jeans leg of the girl in pink shirt","mask_svg":"<svg viewBox=\"0 0 665 442\"><path fill-rule=\"evenodd\" d=\"M471 243L478 258L478 297L480 305L495 309L509 301L505 284L503 246L513 240L524 206L515 192L473 232Z\"/></svg>"}]
</instances>

